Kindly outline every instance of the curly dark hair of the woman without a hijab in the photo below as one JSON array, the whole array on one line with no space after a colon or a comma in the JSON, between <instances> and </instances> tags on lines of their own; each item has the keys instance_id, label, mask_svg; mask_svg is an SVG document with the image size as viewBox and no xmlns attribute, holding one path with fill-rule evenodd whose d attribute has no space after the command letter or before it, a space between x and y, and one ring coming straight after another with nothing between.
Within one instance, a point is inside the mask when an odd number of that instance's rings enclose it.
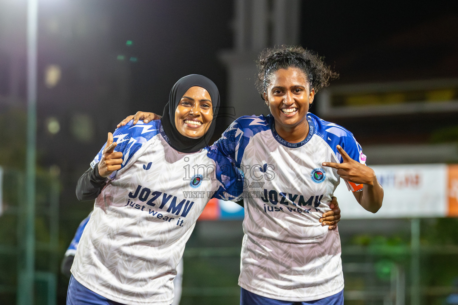
<instances>
[{"instance_id":1,"label":"curly dark hair of the woman without a hijab","mask_svg":"<svg viewBox=\"0 0 458 305\"><path fill-rule=\"evenodd\" d=\"M273 73L279 69L299 68L305 73L310 89L315 89L315 92L329 86L329 81L339 76L324 63L323 57L301 46L282 45L279 48L267 48L259 55L257 65L259 73L256 86L262 99Z\"/></svg>"}]
</instances>

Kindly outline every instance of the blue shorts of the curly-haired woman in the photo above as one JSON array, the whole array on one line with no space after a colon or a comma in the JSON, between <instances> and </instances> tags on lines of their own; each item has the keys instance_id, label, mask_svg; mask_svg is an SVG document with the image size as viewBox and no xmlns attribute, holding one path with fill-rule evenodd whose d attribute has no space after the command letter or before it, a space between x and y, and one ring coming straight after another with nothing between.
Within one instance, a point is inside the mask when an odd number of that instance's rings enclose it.
<instances>
[{"instance_id":1,"label":"blue shorts of the curly-haired woman","mask_svg":"<svg viewBox=\"0 0 458 305\"><path fill-rule=\"evenodd\" d=\"M344 305L344 290L319 300L292 302L266 298L242 288L240 305Z\"/></svg>"}]
</instances>

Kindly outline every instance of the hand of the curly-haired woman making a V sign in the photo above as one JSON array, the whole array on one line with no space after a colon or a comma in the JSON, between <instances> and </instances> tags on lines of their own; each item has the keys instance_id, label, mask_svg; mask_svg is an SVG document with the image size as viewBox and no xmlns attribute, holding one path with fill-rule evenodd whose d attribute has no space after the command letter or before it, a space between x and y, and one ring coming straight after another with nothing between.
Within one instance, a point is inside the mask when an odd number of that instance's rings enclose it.
<instances>
[{"instance_id":1,"label":"hand of the curly-haired woman making a V sign","mask_svg":"<svg viewBox=\"0 0 458 305\"><path fill-rule=\"evenodd\" d=\"M337 174L349 182L374 185L374 179L376 179L374 170L358 161L354 161L340 145L337 145L337 149L342 155L343 162L323 162L322 166L337 168Z\"/></svg>"}]
</instances>

